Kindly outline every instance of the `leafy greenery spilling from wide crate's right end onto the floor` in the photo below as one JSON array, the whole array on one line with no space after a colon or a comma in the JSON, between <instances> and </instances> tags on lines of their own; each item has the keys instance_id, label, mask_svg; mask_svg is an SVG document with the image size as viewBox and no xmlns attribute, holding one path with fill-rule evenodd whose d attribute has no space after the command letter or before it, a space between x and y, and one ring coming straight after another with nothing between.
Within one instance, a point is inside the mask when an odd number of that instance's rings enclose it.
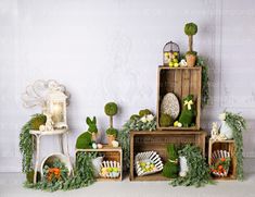
<instances>
[{"instance_id":1,"label":"leafy greenery spilling from wide crate's right end onto the floor","mask_svg":"<svg viewBox=\"0 0 255 197\"><path fill-rule=\"evenodd\" d=\"M201 187L205 184L214 183L209 174L209 167L207 165L199 147L186 145L184 148L178 151L178 153L187 159L189 171L184 177L178 176L171 181L170 185Z\"/></svg>"}]
</instances>

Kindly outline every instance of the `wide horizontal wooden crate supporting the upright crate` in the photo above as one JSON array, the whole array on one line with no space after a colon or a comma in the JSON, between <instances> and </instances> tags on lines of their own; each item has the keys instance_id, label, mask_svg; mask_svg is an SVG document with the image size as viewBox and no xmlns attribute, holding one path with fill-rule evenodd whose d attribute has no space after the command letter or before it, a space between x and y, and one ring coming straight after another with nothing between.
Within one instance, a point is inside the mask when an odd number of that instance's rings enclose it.
<instances>
[{"instance_id":1,"label":"wide horizontal wooden crate supporting the upright crate","mask_svg":"<svg viewBox=\"0 0 255 197\"><path fill-rule=\"evenodd\" d=\"M167 145L174 143L176 145L193 144L202 149L205 153L206 132L203 131L156 131L156 132L130 132L130 181L166 181L162 173L137 176L135 170L135 157L138 152L156 151L163 162L168 159Z\"/></svg>"}]
</instances>

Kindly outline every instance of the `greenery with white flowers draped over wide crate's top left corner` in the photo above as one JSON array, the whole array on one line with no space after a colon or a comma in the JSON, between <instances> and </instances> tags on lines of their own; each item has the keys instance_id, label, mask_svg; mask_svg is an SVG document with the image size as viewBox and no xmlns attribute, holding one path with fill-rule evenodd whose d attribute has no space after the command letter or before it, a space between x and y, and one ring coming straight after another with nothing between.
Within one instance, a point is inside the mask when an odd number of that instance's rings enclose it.
<instances>
[{"instance_id":1,"label":"greenery with white flowers draped over wide crate's top left corner","mask_svg":"<svg viewBox=\"0 0 255 197\"><path fill-rule=\"evenodd\" d=\"M150 114L149 114L150 115ZM144 118L144 119L143 119ZM156 130L156 118L145 121L146 115L131 115L118 132L118 141L123 148L124 169L127 171L130 164L130 131L154 131Z\"/></svg>"}]
</instances>

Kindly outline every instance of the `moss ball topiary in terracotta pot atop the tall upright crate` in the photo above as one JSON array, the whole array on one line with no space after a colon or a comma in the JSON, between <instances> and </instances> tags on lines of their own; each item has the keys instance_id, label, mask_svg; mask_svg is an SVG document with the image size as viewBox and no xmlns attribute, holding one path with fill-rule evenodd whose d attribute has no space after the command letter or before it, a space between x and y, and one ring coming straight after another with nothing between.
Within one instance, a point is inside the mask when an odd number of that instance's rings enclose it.
<instances>
[{"instance_id":1,"label":"moss ball topiary in terracotta pot atop the tall upright crate","mask_svg":"<svg viewBox=\"0 0 255 197\"><path fill-rule=\"evenodd\" d=\"M193 51L193 36L197 33L197 26L194 23L187 23L184 33L189 37L189 51L186 53L188 66L193 67L196 61L196 51Z\"/></svg>"}]
</instances>

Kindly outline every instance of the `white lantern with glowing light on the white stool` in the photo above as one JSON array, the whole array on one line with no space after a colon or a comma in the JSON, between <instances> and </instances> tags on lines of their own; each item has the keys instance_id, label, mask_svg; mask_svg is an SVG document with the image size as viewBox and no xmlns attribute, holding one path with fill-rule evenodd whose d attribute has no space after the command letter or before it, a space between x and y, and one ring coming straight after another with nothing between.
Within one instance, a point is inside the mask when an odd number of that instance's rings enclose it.
<instances>
[{"instance_id":1,"label":"white lantern with glowing light on the white stool","mask_svg":"<svg viewBox=\"0 0 255 197\"><path fill-rule=\"evenodd\" d=\"M54 128L67 127L66 123L67 96L61 90L50 90L47 97L47 111L51 114Z\"/></svg>"}]
</instances>

